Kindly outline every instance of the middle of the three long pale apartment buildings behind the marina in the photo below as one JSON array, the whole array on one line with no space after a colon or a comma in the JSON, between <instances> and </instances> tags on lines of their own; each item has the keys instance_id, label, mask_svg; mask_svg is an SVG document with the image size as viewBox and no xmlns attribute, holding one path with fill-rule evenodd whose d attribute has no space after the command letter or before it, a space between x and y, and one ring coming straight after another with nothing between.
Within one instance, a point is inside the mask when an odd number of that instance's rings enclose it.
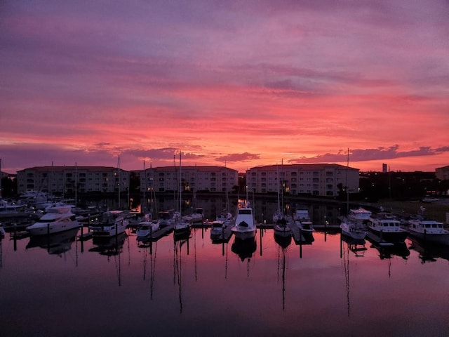
<instances>
[{"instance_id":1,"label":"middle of the three long pale apartment buildings behind the marina","mask_svg":"<svg viewBox=\"0 0 449 337\"><path fill-rule=\"evenodd\" d=\"M179 191L232 191L239 185L239 172L221 166L153 167L140 174L140 190L143 192Z\"/></svg>"}]
</instances>

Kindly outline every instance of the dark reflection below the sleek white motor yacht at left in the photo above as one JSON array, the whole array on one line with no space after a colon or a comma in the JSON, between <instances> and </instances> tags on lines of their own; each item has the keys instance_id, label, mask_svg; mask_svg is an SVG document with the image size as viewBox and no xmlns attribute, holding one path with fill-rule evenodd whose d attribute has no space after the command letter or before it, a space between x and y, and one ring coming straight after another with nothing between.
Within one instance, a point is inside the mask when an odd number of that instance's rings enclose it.
<instances>
[{"instance_id":1,"label":"dark reflection below the sleek white motor yacht at left","mask_svg":"<svg viewBox=\"0 0 449 337\"><path fill-rule=\"evenodd\" d=\"M27 249L40 247L46 249L51 255L61 256L62 253L72 249L72 242L76 240L76 233L79 228L72 228L65 232L58 232L54 234L38 235L29 238Z\"/></svg>"}]
</instances>

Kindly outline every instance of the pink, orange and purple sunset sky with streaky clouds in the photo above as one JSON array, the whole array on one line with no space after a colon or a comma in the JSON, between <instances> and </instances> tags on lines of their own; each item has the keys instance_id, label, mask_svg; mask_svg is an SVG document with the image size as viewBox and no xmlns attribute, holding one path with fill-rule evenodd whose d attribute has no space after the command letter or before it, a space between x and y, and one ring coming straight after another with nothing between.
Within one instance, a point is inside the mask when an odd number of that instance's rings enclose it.
<instances>
[{"instance_id":1,"label":"pink, orange and purple sunset sky with streaky clouds","mask_svg":"<svg viewBox=\"0 0 449 337\"><path fill-rule=\"evenodd\" d=\"M0 159L449 165L449 1L0 1Z\"/></svg>"}]
</instances>

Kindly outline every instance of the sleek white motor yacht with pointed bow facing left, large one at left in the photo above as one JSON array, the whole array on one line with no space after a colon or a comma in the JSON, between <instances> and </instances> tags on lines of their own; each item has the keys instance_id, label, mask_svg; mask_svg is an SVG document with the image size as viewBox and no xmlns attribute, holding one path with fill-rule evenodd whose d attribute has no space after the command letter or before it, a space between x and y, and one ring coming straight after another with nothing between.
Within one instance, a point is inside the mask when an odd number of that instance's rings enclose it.
<instances>
[{"instance_id":1,"label":"sleek white motor yacht with pointed bow facing left, large one at left","mask_svg":"<svg viewBox=\"0 0 449 337\"><path fill-rule=\"evenodd\" d=\"M80 227L70 206L55 206L47 209L33 225L25 229L30 235L43 235L64 232Z\"/></svg>"}]
</instances>

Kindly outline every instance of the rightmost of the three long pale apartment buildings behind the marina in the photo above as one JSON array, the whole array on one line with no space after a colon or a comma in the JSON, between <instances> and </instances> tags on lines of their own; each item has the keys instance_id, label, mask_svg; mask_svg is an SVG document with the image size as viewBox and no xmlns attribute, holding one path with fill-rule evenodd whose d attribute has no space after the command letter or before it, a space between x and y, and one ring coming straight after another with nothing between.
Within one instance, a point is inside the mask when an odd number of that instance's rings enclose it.
<instances>
[{"instance_id":1,"label":"rightmost of the three long pale apartment buildings behind the marina","mask_svg":"<svg viewBox=\"0 0 449 337\"><path fill-rule=\"evenodd\" d=\"M333 197L345 186L358 192L358 175L358 169L338 164L270 165L248 170L246 185L248 192Z\"/></svg>"}]
</instances>

